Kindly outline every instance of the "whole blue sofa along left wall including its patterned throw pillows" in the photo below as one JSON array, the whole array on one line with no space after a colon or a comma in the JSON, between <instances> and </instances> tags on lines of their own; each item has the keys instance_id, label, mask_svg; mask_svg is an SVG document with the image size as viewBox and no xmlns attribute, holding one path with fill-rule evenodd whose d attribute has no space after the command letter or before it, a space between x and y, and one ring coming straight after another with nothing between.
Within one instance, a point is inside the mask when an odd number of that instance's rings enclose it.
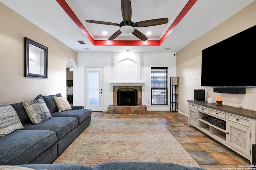
<instances>
[{"instance_id":1,"label":"whole blue sofa along left wall including its patterned throw pillows","mask_svg":"<svg viewBox=\"0 0 256 170\"><path fill-rule=\"evenodd\" d=\"M90 109L61 94L0 105L0 165L50 164L90 124Z\"/></svg>"}]
</instances>

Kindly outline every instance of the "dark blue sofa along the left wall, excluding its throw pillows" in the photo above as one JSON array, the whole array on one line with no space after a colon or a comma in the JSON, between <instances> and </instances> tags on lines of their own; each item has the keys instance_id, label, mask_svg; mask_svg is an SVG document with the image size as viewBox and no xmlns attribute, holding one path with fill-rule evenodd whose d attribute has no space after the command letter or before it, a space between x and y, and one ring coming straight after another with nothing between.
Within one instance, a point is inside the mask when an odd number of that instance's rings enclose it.
<instances>
[{"instance_id":1,"label":"dark blue sofa along the left wall, excluding its throw pillows","mask_svg":"<svg viewBox=\"0 0 256 170\"><path fill-rule=\"evenodd\" d=\"M33 124L23 102L11 104L18 114L23 129L0 138L0 165L50 164L90 124L92 111L84 106L58 112L54 96L42 96L52 117Z\"/></svg>"}]
</instances>

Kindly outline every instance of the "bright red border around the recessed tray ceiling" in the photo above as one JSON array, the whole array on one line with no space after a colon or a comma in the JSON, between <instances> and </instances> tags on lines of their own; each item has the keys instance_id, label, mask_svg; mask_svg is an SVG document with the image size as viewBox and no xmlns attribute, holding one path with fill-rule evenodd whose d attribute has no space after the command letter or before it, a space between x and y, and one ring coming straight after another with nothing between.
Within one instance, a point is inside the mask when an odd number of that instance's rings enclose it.
<instances>
[{"instance_id":1,"label":"bright red border around the recessed tray ceiling","mask_svg":"<svg viewBox=\"0 0 256 170\"><path fill-rule=\"evenodd\" d=\"M90 33L86 30L81 21L77 18L71 8L68 6L65 0L56 0L58 4L62 7L62 9L68 14L68 16L76 23L76 25L81 29L84 35L89 39L89 41L93 45L127 45L127 46L159 46L164 40L168 37L168 35L172 32L172 30L178 25L178 23L182 20L182 18L188 13L188 11L194 6L197 0L189 0L186 6L182 9L180 14L174 20L174 22L170 25L166 33L164 33L163 37L160 40L146 40L146 41L124 41L124 40L94 40Z\"/></svg>"}]
</instances>

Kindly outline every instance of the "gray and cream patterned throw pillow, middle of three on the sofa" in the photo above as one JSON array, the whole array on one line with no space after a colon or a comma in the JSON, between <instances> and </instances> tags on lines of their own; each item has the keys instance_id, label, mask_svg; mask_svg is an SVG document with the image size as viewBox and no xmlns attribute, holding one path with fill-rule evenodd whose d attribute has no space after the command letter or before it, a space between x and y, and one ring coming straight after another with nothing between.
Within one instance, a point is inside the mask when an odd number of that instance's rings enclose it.
<instances>
[{"instance_id":1,"label":"gray and cream patterned throw pillow, middle of three on the sofa","mask_svg":"<svg viewBox=\"0 0 256 170\"><path fill-rule=\"evenodd\" d=\"M23 106L26 109L28 117L34 124L39 124L52 117L42 98L25 101L23 102Z\"/></svg>"}]
</instances>

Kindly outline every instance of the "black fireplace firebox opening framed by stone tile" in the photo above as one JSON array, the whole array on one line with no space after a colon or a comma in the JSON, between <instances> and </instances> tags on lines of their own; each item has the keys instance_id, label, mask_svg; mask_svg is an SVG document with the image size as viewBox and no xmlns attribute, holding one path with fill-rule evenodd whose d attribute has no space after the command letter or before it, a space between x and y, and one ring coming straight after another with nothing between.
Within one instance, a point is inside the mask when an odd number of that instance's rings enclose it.
<instances>
[{"instance_id":1,"label":"black fireplace firebox opening framed by stone tile","mask_svg":"<svg viewBox=\"0 0 256 170\"><path fill-rule=\"evenodd\" d=\"M117 90L118 106L137 106L138 92L134 88L121 88Z\"/></svg>"}]
</instances>

